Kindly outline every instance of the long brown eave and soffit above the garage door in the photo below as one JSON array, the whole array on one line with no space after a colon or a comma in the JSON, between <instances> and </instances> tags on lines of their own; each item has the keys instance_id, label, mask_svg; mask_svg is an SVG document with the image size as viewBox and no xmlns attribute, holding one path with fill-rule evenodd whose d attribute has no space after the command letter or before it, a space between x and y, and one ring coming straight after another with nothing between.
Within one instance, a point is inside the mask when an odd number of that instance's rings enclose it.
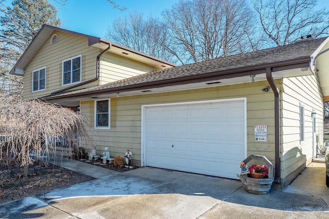
<instances>
[{"instance_id":1,"label":"long brown eave and soffit above the garage door","mask_svg":"<svg viewBox=\"0 0 329 219\"><path fill-rule=\"evenodd\" d=\"M201 82L218 81L222 79L230 79L230 78L245 77L245 76L247 76L245 78L248 78L250 82L249 75L264 75L263 80L265 81L266 68L271 68L273 75L277 76L276 78L310 75L313 74L313 72L309 70L312 61L311 59L312 59L311 57L301 57L297 59L287 60L284 62L274 62L274 63L268 63L263 65L248 66L238 69L232 68L229 70L214 71L214 72L185 76L185 77L173 77L173 78L163 79L160 81L145 82L140 84L132 84L132 85L126 85L120 87L99 89L99 90L96 89L96 90L86 90L86 91L82 90L81 92L71 92L71 93L68 92L67 94L44 97L44 99L46 101L53 101L56 99L63 99L63 98L90 97L90 96L103 95L103 94L120 93L120 95L124 95L124 93L128 93L131 91L140 91L140 90L163 88L163 87L168 87L170 89L173 86L178 88L179 86L184 86L187 84L197 84ZM291 70L291 71L287 73L287 70ZM198 88L202 88L202 87L198 87Z\"/></svg>"}]
</instances>

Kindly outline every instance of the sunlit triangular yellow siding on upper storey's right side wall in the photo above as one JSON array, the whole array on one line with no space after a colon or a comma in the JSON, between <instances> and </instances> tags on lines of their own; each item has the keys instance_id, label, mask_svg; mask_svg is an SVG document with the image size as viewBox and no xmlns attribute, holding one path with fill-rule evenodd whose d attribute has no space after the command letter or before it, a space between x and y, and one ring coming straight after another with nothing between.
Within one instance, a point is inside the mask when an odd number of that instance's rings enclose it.
<instances>
[{"instance_id":1,"label":"sunlit triangular yellow siding on upper storey's right side wall","mask_svg":"<svg viewBox=\"0 0 329 219\"><path fill-rule=\"evenodd\" d=\"M101 57L101 84L115 82L127 77L132 77L150 71L159 70L158 68L145 65L144 63L140 63L123 56L115 55L110 52L111 49L108 53L105 53Z\"/></svg>"}]
</instances>

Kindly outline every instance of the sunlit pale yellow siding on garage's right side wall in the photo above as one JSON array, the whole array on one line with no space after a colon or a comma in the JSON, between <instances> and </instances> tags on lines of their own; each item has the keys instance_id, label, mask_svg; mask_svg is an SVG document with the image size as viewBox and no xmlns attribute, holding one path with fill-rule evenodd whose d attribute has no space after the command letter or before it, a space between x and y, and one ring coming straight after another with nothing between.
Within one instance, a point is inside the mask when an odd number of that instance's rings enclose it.
<instances>
[{"instance_id":1,"label":"sunlit pale yellow siding on garage's right side wall","mask_svg":"<svg viewBox=\"0 0 329 219\"><path fill-rule=\"evenodd\" d=\"M281 178L312 161L315 110L317 134L323 139L323 101L318 78L313 75L283 79L281 118ZM305 107L305 141L300 142L300 104ZM319 142L322 144L322 141Z\"/></svg>"}]
</instances>

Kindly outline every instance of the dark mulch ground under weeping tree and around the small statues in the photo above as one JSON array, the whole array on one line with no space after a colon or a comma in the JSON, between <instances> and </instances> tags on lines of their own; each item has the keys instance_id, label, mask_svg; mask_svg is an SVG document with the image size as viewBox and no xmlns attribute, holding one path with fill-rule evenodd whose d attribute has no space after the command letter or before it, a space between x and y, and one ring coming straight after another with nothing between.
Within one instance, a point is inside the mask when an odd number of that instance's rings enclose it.
<instances>
[{"instance_id":1,"label":"dark mulch ground under weeping tree and around the small statues","mask_svg":"<svg viewBox=\"0 0 329 219\"><path fill-rule=\"evenodd\" d=\"M102 164L101 160L81 162L97 165L117 172L125 172L138 168L119 168L113 164ZM56 165L41 166L38 162L29 166L29 176L23 176L23 168L0 165L0 204L19 200L24 197L46 193L48 191L94 180L93 177L68 170Z\"/></svg>"}]
</instances>

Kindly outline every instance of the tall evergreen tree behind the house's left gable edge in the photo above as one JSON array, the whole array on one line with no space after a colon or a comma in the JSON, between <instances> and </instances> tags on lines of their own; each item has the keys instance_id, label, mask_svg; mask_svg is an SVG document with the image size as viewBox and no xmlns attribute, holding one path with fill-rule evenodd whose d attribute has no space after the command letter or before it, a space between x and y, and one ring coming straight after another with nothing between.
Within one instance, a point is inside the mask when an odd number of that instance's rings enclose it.
<instances>
[{"instance_id":1,"label":"tall evergreen tree behind the house's left gable edge","mask_svg":"<svg viewBox=\"0 0 329 219\"><path fill-rule=\"evenodd\" d=\"M0 75L1 95L21 96L23 80L9 75L10 70L43 24L60 26L57 10L48 1L14 0L12 7L0 1ZM63 3L65 0L59 0Z\"/></svg>"}]
</instances>

